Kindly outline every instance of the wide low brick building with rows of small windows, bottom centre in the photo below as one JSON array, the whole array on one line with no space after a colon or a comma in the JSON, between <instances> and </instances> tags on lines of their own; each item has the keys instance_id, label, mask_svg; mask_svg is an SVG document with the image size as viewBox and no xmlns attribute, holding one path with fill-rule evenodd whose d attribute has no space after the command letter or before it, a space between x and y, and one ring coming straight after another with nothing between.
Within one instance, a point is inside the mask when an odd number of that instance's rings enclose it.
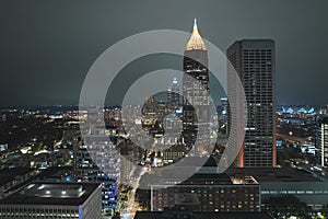
<instances>
[{"instance_id":1,"label":"wide low brick building with rows of small windows, bottom centre","mask_svg":"<svg viewBox=\"0 0 328 219\"><path fill-rule=\"evenodd\" d=\"M260 187L251 177L225 174L195 174L186 182L167 187L151 186L151 210L175 208L185 211L260 211Z\"/></svg>"}]
</instances>

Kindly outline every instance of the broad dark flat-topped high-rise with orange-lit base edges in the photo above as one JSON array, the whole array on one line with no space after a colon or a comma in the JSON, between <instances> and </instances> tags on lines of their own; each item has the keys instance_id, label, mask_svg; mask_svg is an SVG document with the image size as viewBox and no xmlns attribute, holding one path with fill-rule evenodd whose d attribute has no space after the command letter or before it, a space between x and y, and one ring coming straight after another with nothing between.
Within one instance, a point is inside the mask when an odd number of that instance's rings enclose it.
<instances>
[{"instance_id":1,"label":"broad dark flat-topped high-rise with orange-lit base edges","mask_svg":"<svg viewBox=\"0 0 328 219\"><path fill-rule=\"evenodd\" d=\"M237 72L244 87L247 124L245 139L239 151L237 165L276 166L276 59L272 39L243 39L227 48L232 68L227 71L227 94L230 105L243 107L241 91L236 88ZM230 113L231 111L229 111ZM243 128L243 117L229 115L230 135L237 138Z\"/></svg>"}]
</instances>

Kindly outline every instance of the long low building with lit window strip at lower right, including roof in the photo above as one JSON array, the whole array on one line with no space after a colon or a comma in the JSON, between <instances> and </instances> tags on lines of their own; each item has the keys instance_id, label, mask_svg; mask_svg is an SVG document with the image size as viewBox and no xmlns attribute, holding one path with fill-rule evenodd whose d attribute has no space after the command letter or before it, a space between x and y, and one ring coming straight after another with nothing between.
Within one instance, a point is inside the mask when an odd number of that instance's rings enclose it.
<instances>
[{"instance_id":1,"label":"long low building with lit window strip at lower right, including roof","mask_svg":"<svg viewBox=\"0 0 328 219\"><path fill-rule=\"evenodd\" d=\"M328 181L317 177L302 168L230 168L226 173L249 175L261 187L261 205L270 198L294 196L314 210L320 210L327 205Z\"/></svg>"}]
</instances>

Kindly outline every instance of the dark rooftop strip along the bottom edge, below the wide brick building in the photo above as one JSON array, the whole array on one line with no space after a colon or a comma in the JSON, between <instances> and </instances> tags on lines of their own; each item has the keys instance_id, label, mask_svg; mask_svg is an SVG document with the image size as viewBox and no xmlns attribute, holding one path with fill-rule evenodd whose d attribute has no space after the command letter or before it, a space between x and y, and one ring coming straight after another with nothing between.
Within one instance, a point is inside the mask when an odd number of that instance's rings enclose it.
<instances>
[{"instance_id":1,"label":"dark rooftop strip along the bottom edge, below the wide brick building","mask_svg":"<svg viewBox=\"0 0 328 219\"><path fill-rule=\"evenodd\" d=\"M178 217L180 216L180 217ZM185 217L183 217L185 216ZM272 219L266 212L164 212L137 211L134 219Z\"/></svg>"}]
</instances>

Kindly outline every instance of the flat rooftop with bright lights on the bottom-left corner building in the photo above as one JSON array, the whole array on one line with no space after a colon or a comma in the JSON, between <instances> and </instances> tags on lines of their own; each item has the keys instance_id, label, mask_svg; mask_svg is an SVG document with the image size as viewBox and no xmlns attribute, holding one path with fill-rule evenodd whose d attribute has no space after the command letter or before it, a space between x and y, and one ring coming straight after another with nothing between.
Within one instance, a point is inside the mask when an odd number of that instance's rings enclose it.
<instances>
[{"instance_id":1,"label":"flat rooftop with bright lights on the bottom-left corner building","mask_svg":"<svg viewBox=\"0 0 328 219\"><path fill-rule=\"evenodd\" d=\"M79 206L97 189L97 183L32 182L0 200L0 205Z\"/></svg>"}]
</instances>

